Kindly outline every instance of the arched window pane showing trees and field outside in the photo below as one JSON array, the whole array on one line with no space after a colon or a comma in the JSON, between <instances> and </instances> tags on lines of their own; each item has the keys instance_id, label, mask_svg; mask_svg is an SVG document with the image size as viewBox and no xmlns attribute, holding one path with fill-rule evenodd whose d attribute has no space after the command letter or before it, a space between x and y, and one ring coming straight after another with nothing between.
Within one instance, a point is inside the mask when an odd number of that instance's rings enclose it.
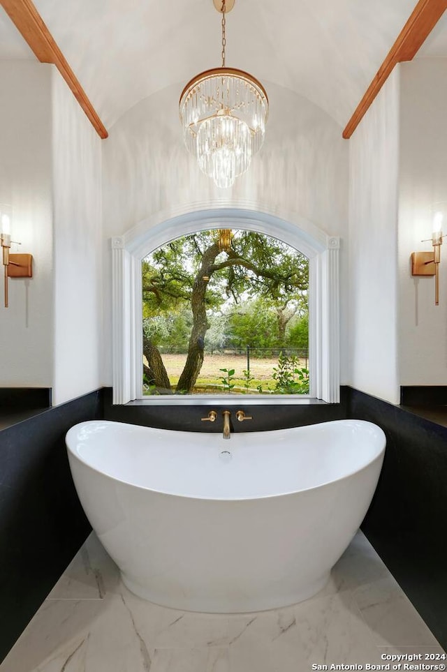
<instances>
[{"instance_id":1,"label":"arched window pane showing trees and field outside","mask_svg":"<svg viewBox=\"0 0 447 672\"><path fill-rule=\"evenodd\" d=\"M308 299L309 260L277 238L162 245L142 260L143 394L309 395Z\"/></svg>"}]
</instances>

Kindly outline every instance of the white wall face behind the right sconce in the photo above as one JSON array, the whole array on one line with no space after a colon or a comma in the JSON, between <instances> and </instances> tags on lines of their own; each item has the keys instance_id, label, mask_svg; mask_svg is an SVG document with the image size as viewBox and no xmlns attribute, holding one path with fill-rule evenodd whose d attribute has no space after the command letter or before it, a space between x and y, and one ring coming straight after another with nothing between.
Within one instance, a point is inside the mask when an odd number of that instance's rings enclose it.
<instances>
[{"instance_id":1,"label":"white wall face behind the right sconce","mask_svg":"<svg viewBox=\"0 0 447 672\"><path fill-rule=\"evenodd\" d=\"M439 306L434 278L411 276L413 251L432 251L432 204L447 202L447 59L401 66L400 382L447 384L447 246L441 248ZM444 227L447 233L447 227ZM444 257L444 258L443 258Z\"/></svg>"}]
</instances>

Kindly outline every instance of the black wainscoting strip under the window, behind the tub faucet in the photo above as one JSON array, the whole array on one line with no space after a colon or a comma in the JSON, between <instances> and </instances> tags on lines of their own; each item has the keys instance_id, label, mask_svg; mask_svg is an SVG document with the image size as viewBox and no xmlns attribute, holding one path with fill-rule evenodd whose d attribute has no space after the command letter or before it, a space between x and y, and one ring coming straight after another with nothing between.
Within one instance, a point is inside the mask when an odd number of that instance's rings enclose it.
<instances>
[{"instance_id":1,"label":"black wainscoting strip under the window, behind the tub faucet","mask_svg":"<svg viewBox=\"0 0 447 672\"><path fill-rule=\"evenodd\" d=\"M244 403L243 396L237 406L231 405L231 431L263 432L273 429L286 429L312 425L328 420L346 418L348 388L342 387L340 403L314 403L312 400L303 405L250 405ZM233 401L233 400L232 400ZM211 408L217 411L218 419L215 422L202 422L200 418L207 417ZM221 412L228 408L226 405L150 405L140 402L131 402L124 406L112 405L112 389L104 390L104 419L118 422L129 422L135 425L144 425L160 429L175 429L187 432L221 432L223 421ZM238 422L235 412L241 408L253 420ZM233 412L234 410L234 412Z\"/></svg>"}]
</instances>

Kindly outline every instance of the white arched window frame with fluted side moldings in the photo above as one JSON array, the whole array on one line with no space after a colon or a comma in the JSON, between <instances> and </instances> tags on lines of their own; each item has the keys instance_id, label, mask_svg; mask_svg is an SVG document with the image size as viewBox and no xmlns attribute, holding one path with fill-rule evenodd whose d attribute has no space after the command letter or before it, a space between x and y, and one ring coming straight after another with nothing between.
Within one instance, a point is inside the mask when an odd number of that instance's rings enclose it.
<instances>
[{"instance_id":1,"label":"white arched window frame with fluted side moldings","mask_svg":"<svg viewBox=\"0 0 447 672\"><path fill-rule=\"evenodd\" d=\"M142 399L142 259L180 236L221 228L245 229L272 236L309 258L310 398L339 403L339 246L305 218L293 221L244 208L208 208L143 221L112 247L113 403L240 405L240 396L163 395ZM251 404L302 403L302 395L244 395ZM307 400L309 401L309 400Z\"/></svg>"}]
</instances>

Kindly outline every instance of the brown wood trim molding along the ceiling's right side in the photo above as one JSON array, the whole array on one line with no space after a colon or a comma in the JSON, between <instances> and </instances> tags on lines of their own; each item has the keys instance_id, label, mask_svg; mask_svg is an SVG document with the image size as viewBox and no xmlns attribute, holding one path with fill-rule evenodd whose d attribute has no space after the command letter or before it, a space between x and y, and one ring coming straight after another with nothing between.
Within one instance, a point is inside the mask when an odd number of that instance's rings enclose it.
<instances>
[{"instance_id":1,"label":"brown wood trim molding along the ceiling's right side","mask_svg":"<svg viewBox=\"0 0 447 672\"><path fill-rule=\"evenodd\" d=\"M409 20L406 22L402 31L400 31L397 40L388 52L388 56L377 70L376 76L358 104L358 107L351 119L349 119L346 128L343 131L343 137L349 138L356 130L362 120L365 112L371 105L374 98L385 84L394 66L402 61L411 61L416 52L423 45L427 36L437 24L441 16L447 9L447 0L419 0L413 9Z\"/></svg>"}]
</instances>

